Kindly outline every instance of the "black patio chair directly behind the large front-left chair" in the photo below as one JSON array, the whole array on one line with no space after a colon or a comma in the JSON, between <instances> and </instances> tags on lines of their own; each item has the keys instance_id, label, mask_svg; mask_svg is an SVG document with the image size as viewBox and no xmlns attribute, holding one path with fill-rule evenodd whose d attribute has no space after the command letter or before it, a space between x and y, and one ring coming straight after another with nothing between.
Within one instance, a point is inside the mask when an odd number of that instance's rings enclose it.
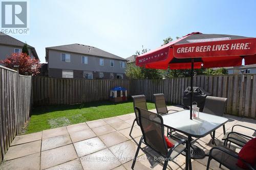
<instances>
[{"instance_id":1,"label":"black patio chair directly behind the large front-left chair","mask_svg":"<svg viewBox=\"0 0 256 170\"><path fill-rule=\"evenodd\" d=\"M134 108L134 113L135 113L136 118L133 120L133 125L132 125L132 128L131 128L130 134L129 134L130 136L132 134L135 122L137 123L138 126L140 126L140 123L139 123L139 113L135 109L135 107L139 107L139 108L147 110L146 96L145 95L133 95L132 99L133 99L133 108Z\"/></svg>"}]
</instances>

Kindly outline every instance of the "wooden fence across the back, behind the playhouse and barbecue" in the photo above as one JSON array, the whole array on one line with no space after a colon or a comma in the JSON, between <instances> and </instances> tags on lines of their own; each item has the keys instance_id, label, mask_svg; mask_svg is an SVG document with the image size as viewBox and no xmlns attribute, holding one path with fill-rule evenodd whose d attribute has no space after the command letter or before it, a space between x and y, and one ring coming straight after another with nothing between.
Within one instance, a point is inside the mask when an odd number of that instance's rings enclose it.
<instances>
[{"instance_id":1,"label":"wooden fence across the back, behind the playhouse and barbecue","mask_svg":"<svg viewBox=\"0 0 256 170\"><path fill-rule=\"evenodd\" d=\"M33 77L34 106L65 105L109 100L110 89L122 86L127 95L145 94L154 102L154 93L164 93L166 102L182 105L182 94L190 85L190 78L165 80L86 80ZM194 86L213 96L228 98L225 113L256 118L256 75L196 76Z\"/></svg>"}]
</instances>

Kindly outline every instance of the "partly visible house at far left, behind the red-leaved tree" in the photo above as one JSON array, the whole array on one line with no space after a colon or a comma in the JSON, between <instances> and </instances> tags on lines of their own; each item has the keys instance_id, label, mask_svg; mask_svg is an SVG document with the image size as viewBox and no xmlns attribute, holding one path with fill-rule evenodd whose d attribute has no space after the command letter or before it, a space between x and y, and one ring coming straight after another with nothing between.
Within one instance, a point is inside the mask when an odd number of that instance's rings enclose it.
<instances>
[{"instance_id":1,"label":"partly visible house at far left, behind the red-leaved tree","mask_svg":"<svg viewBox=\"0 0 256 170\"><path fill-rule=\"evenodd\" d=\"M21 53L24 44L24 42L0 32L0 61L6 59L12 53ZM38 59L33 46L28 45L28 50L31 58Z\"/></svg>"}]
</instances>

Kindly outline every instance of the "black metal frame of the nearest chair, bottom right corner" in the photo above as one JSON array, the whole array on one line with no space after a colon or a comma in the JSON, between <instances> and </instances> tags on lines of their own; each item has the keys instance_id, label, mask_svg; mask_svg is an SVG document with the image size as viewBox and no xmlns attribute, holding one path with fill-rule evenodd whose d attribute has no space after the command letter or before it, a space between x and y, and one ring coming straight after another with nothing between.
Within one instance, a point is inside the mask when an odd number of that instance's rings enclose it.
<instances>
[{"instance_id":1,"label":"black metal frame of the nearest chair, bottom right corner","mask_svg":"<svg viewBox=\"0 0 256 170\"><path fill-rule=\"evenodd\" d=\"M225 141L224 141L225 144L227 143L227 140L228 140L228 138L225 139ZM212 150L215 150L215 149L220 150L221 152L224 152L225 154L228 154L228 155L230 155L230 156L232 156L232 157L234 157L234 158L236 158L236 159L241 160L244 164L246 164L246 166L247 166L250 170L255 170L249 163L247 163L245 160L239 158L238 154L234 154L234 153L232 153L232 152L227 152L227 151L225 151L225 150L224 150L223 148L221 148L221 147L214 147L214 148L211 148L211 150L210 150L210 152L209 152L209 158L208 158L206 170L209 169L211 159L214 159L214 158L211 156L211 154L212 154ZM231 169L231 167L229 166L229 164L226 164L226 163L223 164L223 162L221 162L221 161L219 161L219 160L217 160L217 159L214 159L214 160L216 160L217 162L220 163L220 166L219 166L219 167L221 167L221 165L224 165L224 166L226 166L227 168ZM236 170L236 169L231 169L231 170Z\"/></svg>"}]
</instances>

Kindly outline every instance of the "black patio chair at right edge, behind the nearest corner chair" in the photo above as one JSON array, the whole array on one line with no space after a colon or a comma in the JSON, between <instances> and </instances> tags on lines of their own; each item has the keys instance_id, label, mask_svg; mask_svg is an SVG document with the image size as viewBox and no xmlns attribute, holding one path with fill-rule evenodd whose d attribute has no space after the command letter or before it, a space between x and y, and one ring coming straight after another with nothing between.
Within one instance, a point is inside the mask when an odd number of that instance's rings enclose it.
<instances>
[{"instance_id":1,"label":"black patio chair at right edge, behind the nearest corner chair","mask_svg":"<svg viewBox=\"0 0 256 170\"><path fill-rule=\"evenodd\" d=\"M231 132L227 132L222 140L224 140L224 145L227 146L227 143L229 142L228 148L230 148L230 143L237 144L239 147L243 147L245 143L247 143L250 139L253 139L253 136L248 136L242 133L239 133L238 131L234 131L234 127L242 127L247 130L252 130L254 133L256 132L256 129L246 127L243 125L234 125L231 129Z\"/></svg>"}]
</instances>

